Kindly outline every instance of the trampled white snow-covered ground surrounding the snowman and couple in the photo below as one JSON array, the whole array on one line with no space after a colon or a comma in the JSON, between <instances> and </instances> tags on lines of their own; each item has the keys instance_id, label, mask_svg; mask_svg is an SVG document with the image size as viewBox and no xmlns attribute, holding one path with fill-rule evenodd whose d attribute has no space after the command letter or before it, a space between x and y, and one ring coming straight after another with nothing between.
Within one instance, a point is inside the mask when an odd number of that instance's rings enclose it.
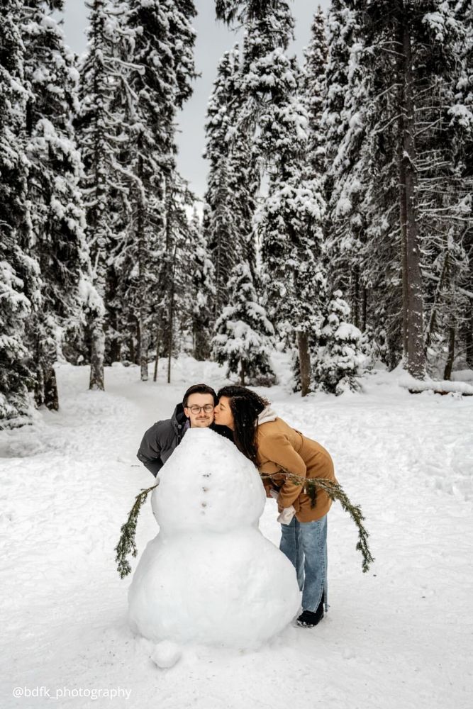
<instances>
[{"instance_id":1,"label":"trampled white snow-covered ground surrounding the snowman and couple","mask_svg":"<svg viewBox=\"0 0 473 709\"><path fill-rule=\"evenodd\" d=\"M281 384L261 391L331 452L376 562L362 574L355 526L335 504L318 627L286 627L256 652L188 647L160 670L128 629L131 576L118 576L113 548L154 480L135 458L144 430L189 384L224 382L215 364L183 358L167 385L162 367L156 384L107 369L98 393L87 368L61 365L61 411L0 434L1 708L471 708L473 397L411 395L380 373L359 395L301 399L279 362ZM274 543L276 515L267 501L260 526ZM139 552L156 532L148 501Z\"/></svg>"}]
</instances>

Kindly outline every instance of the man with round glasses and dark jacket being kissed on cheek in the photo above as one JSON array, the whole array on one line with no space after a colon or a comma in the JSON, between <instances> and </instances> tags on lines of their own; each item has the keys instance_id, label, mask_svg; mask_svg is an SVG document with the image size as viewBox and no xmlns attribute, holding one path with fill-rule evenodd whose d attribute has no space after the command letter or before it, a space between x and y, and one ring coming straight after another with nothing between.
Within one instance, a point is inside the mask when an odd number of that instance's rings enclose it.
<instances>
[{"instance_id":1,"label":"man with round glasses and dark jacket being kissed on cheek","mask_svg":"<svg viewBox=\"0 0 473 709\"><path fill-rule=\"evenodd\" d=\"M179 445L189 428L212 428L217 433L233 440L226 426L213 423L213 409L217 395L207 384L194 384L184 394L171 418L157 421L145 432L138 450L138 459L156 477L175 447Z\"/></svg>"}]
</instances>

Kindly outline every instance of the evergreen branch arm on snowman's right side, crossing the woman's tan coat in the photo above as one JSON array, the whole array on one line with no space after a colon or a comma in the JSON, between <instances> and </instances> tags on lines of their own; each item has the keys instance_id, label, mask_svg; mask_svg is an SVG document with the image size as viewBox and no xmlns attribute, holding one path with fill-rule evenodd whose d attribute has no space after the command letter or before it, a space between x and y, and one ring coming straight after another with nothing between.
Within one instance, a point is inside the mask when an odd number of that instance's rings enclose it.
<instances>
[{"instance_id":1,"label":"evergreen branch arm on snowman's right side, crossing the woman's tan coat","mask_svg":"<svg viewBox=\"0 0 473 709\"><path fill-rule=\"evenodd\" d=\"M262 478L269 478L271 479L271 475L267 474L260 474ZM315 507L316 506L316 500L317 500L317 489L324 490L328 496L330 497L330 500L338 500L340 505L343 507L345 512L347 512L350 517L352 518L353 522L357 526L358 530L358 542L357 542L357 549L358 551L361 552L363 561L362 561L362 570L363 573L368 571L369 569L369 564L372 564L374 562L374 557L372 557L371 552L369 551L368 547L368 537L369 533L366 530L365 525L363 524L365 517L362 514L362 509L360 505L353 505L350 502L350 498L347 496L347 493L345 493L345 490L343 487L340 485L340 483L335 483L333 480L328 480L325 478L303 478L299 475L294 475L293 473L290 473L287 470L283 470L281 472L278 472L278 475L284 475L287 480L291 481L291 483L294 483L294 485L302 485L304 488L307 490L308 496L311 498L311 506Z\"/></svg>"}]
</instances>

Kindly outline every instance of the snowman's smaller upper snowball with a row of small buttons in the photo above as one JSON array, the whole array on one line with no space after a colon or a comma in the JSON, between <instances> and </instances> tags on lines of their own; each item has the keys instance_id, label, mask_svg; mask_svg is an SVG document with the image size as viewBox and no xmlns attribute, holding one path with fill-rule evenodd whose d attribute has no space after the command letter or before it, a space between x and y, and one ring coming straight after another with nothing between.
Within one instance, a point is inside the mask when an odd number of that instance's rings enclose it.
<instances>
[{"instance_id":1,"label":"snowman's smaller upper snowball with a row of small buttons","mask_svg":"<svg viewBox=\"0 0 473 709\"><path fill-rule=\"evenodd\" d=\"M265 507L255 466L209 428L189 429L159 478L152 510L163 533L254 525Z\"/></svg>"}]
</instances>

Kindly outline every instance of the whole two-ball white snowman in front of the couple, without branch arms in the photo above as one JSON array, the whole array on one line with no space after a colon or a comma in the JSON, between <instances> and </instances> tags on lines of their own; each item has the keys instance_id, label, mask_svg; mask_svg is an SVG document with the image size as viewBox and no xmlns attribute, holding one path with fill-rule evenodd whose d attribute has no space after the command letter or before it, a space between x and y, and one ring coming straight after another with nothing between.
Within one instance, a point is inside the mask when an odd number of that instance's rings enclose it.
<instances>
[{"instance_id":1,"label":"whole two-ball white snowman in front of the couple, without branch arms","mask_svg":"<svg viewBox=\"0 0 473 709\"><path fill-rule=\"evenodd\" d=\"M265 490L226 438L191 428L160 470L148 543L128 591L134 632L155 643L257 647L296 615L296 572L258 520Z\"/></svg>"}]
</instances>

